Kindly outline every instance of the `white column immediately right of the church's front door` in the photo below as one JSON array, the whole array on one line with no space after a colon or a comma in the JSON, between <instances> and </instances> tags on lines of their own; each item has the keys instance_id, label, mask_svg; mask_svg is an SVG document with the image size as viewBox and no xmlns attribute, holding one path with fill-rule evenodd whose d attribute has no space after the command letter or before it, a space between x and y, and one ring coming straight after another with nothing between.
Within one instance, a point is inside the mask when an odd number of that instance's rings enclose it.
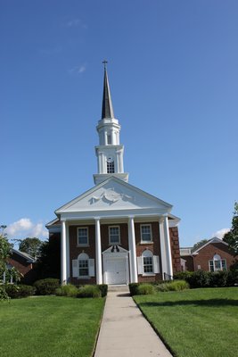
<instances>
[{"instance_id":1,"label":"white column immediately right of the church's front door","mask_svg":"<svg viewBox=\"0 0 238 357\"><path fill-rule=\"evenodd\" d=\"M129 240L129 252L130 252L130 281L131 283L137 283L137 265L136 265L136 249L135 249L135 226L134 218L129 217L128 221L128 240Z\"/></svg>"}]
</instances>

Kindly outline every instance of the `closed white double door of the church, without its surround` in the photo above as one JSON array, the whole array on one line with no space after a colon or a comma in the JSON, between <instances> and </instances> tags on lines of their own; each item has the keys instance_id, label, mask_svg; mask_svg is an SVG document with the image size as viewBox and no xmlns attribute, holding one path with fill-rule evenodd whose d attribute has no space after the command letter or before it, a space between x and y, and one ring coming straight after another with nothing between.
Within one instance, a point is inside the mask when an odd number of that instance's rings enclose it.
<instances>
[{"instance_id":1,"label":"closed white double door of the church, without its surround","mask_svg":"<svg viewBox=\"0 0 238 357\"><path fill-rule=\"evenodd\" d=\"M105 260L106 284L127 284L127 258L107 257Z\"/></svg>"}]
</instances>

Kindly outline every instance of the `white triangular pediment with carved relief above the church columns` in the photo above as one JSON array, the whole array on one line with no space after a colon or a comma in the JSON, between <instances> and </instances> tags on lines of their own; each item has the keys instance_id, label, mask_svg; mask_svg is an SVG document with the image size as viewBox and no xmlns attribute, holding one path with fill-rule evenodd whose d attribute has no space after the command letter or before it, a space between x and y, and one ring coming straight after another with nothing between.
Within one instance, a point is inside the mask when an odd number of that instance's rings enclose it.
<instances>
[{"instance_id":1,"label":"white triangular pediment with carved relief above the church columns","mask_svg":"<svg viewBox=\"0 0 238 357\"><path fill-rule=\"evenodd\" d=\"M162 213L170 212L171 208L171 204L149 195L121 179L111 177L83 195L79 195L70 203L64 204L55 213L133 211L138 209L155 209Z\"/></svg>"}]
</instances>

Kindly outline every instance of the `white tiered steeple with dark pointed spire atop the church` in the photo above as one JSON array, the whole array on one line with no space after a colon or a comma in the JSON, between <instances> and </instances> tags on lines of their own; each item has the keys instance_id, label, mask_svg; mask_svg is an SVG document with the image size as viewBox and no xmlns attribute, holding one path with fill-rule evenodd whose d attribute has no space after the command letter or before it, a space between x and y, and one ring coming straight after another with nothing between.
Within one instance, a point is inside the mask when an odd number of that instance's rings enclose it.
<instances>
[{"instance_id":1,"label":"white tiered steeple with dark pointed spire atop the church","mask_svg":"<svg viewBox=\"0 0 238 357\"><path fill-rule=\"evenodd\" d=\"M111 92L107 74L107 61L104 64L103 106L102 119L96 127L99 135L99 145L95 146L98 173L94 175L95 185L111 176L128 181L128 174L124 173L123 153L124 145L119 144L119 120L114 118Z\"/></svg>"}]
</instances>

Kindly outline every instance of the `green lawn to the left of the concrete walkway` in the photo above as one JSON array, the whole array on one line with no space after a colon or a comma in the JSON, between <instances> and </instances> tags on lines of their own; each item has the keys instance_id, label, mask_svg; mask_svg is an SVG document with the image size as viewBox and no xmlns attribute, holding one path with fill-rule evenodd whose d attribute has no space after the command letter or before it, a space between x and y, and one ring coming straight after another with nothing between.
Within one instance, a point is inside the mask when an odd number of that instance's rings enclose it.
<instances>
[{"instance_id":1,"label":"green lawn to the left of the concrete walkway","mask_svg":"<svg viewBox=\"0 0 238 357\"><path fill-rule=\"evenodd\" d=\"M104 301L38 296L0 302L0 356L91 356Z\"/></svg>"}]
</instances>

